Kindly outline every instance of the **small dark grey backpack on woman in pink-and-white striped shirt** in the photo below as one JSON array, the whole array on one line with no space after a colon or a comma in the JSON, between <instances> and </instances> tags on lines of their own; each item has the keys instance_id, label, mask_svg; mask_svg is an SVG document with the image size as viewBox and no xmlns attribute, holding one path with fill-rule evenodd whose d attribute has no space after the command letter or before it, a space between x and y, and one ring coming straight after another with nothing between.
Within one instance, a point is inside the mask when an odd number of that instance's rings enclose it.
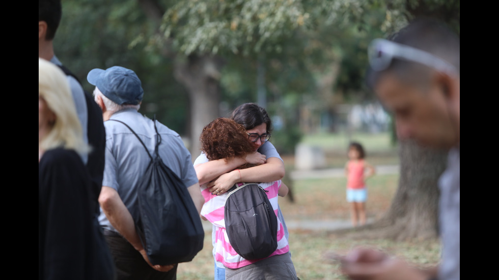
<instances>
[{"instance_id":1,"label":"small dark grey backpack on woman in pink-and-white striped shirt","mask_svg":"<svg viewBox=\"0 0 499 280\"><path fill-rule=\"evenodd\" d=\"M257 183L236 184L225 203L229 242L246 260L266 258L277 249L277 217L266 192Z\"/></svg>"}]
</instances>

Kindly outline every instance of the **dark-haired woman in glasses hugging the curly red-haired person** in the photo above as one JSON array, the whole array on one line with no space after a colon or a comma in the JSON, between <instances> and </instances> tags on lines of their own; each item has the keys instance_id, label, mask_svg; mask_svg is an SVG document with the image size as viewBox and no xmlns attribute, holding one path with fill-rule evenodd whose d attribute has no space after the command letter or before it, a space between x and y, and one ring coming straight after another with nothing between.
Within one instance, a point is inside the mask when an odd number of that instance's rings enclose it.
<instances>
[{"instance_id":1,"label":"dark-haired woman in glasses hugging the curly red-haired person","mask_svg":"<svg viewBox=\"0 0 499 280\"><path fill-rule=\"evenodd\" d=\"M254 151L244 155L235 155L229 159L209 160L203 151L194 162L202 188L214 195L227 192L237 182L272 182L281 180L285 174L284 162L275 147L268 140L272 122L266 110L255 103L245 103L238 106L230 117L246 130ZM236 170L244 164L255 166ZM278 215L283 222L284 234L288 238L288 230L278 208ZM215 229L212 233L213 245ZM213 251L215 257L215 251ZM223 264L215 261L215 280L225 279Z\"/></svg>"}]
</instances>

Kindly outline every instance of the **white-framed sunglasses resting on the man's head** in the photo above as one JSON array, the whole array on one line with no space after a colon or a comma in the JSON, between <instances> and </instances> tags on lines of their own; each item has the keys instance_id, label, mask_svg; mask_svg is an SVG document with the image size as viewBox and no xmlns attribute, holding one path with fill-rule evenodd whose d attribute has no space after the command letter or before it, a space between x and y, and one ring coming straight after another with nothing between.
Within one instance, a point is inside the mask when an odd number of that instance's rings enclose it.
<instances>
[{"instance_id":1,"label":"white-framed sunglasses resting on the man's head","mask_svg":"<svg viewBox=\"0 0 499 280\"><path fill-rule=\"evenodd\" d=\"M385 39L374 39L371 42L368 49L368 57L371 68L374 71L387 69L392 63L393 58L399 58L424 64L449 75L458 75L456 68L452 64L429 52Z\"/></svg>"}]
</instances>

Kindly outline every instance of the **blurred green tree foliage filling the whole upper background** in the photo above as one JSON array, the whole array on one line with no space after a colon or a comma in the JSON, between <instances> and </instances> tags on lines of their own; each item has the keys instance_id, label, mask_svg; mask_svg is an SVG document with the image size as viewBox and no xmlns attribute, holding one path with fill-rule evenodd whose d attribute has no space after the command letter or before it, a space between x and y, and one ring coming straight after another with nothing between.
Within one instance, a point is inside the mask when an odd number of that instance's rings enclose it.
<instances>
[{"instance_id":1,"label":"blurred green tree foliage filling the whole upper background","mask_svg":"<svg viewBox=\"0 0 499 280\"><path fill-rule=\"evenodd\" d=\"M146 92L141 111L181 134L189 99L174 77L177 59L193 53L225 59L220 89L227 110L256 100L260 61L269 113L297 127L297 108L308 102L327 110L337 100L374 98L364 86L368 43L422 15L436 15L459 33L458 0L65 0L54 47L89 91L91 69L133 69ZM327 100L321 79L338 63L326 89L342 98ZM281 106L296 96L302 99Z\"/></svg>"}]
</instances>

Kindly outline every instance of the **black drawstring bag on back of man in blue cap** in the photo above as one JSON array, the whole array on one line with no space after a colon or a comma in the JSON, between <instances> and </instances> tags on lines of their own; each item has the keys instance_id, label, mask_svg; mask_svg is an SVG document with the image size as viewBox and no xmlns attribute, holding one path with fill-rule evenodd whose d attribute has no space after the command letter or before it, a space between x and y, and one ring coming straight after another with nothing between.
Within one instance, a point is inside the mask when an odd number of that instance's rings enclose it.
<instances>
[{"instance_id":1,"label":"black drawstring bag on back of man in blue cap","mask_svg":"<svg viewBox=\"0 0 499 280\"><path fill-rule=\"evenodd\" d=\"M156 120L153 121L156 130L154 157L141 138L126 123L119 121L137 137L151 159L137 187L140 213L134 218L135 229L153 265L189 262L203 248L203 225L185 184L159 157L161 136Z\"/></svg>"}]
</instances>

